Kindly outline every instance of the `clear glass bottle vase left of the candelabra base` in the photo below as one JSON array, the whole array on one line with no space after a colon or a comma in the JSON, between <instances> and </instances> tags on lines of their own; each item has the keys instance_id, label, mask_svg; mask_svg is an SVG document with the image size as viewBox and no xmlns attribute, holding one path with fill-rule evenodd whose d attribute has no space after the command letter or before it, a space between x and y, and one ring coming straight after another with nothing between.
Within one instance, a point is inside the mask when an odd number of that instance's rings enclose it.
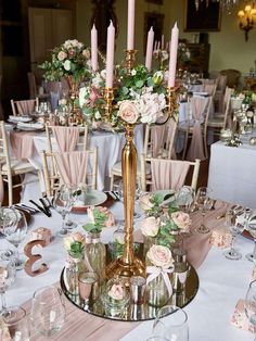
<instances>
[{"instance_id":1,"label":"clear glass bottle vase left of the candelabra base","mask_svg":"<svg viewBox=\"0 0 256 341\"><path fill-rule=\"evenodd\" d=\"M90 242L86 244L86 253L91 269L98 274L100 283L105 279L106 249L100 240L100 233L91 233Z\"/></svg>"}]
</instances>

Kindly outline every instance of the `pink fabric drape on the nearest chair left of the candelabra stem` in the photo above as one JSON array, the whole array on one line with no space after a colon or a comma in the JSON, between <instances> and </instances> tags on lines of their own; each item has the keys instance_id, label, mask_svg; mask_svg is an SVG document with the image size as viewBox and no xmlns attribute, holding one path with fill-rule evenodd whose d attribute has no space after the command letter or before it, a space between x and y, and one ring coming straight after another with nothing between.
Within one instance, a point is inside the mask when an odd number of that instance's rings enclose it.
<instances>
[{"instance_id":1,"label":"pink fabric drape on the nearest chair left of the candelabra stem","mask_svg":"<svg viewBox=\"0 0 256 341\"><path fill-rule=\"evenodd\" d=\"M87 182L89 151L53 153L61 182L75 185Z\"/></svg>"}]
</instances>

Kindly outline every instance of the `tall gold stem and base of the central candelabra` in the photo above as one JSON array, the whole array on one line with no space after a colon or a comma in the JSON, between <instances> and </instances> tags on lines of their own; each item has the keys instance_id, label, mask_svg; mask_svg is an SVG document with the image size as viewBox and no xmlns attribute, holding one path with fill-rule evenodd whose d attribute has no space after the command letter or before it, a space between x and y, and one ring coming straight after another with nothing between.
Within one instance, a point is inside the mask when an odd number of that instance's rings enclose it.
<instances>
[{"instance_id":1,"label":"tall gold stem and base of the central candelabra","mask_svg":"<svg viewBox=\"0 0 256 341\"><path fill-rule=\"evenodd\" d=\"M106 267L106 277L121 276L129 287L130 277L145 276L144 263L133 253L133 212L137 179L137 151L133 144L135 126L126 125L126 144L121 151L124 184L125 245L124 254Z\"/></svg>"}]
</instances>

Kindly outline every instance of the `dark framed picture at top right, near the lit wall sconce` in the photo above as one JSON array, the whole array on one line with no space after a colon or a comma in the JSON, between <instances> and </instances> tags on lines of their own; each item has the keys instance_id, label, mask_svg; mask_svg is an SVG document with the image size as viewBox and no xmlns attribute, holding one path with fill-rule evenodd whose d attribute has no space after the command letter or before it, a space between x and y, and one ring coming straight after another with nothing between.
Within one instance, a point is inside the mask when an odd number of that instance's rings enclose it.
<instances>
[{"instance_id":1,"label":"dark framed picture at top right, near the lit wall sconce","mask_svg":"<svg viewBox=\"0 0 256 341\"><path fill-rule=\"evenodd\" d=\"M200 1L197 9L194 0L184 1L184 31L220 30L221 11L219 1Z\"/></svg>"}]
</instances>

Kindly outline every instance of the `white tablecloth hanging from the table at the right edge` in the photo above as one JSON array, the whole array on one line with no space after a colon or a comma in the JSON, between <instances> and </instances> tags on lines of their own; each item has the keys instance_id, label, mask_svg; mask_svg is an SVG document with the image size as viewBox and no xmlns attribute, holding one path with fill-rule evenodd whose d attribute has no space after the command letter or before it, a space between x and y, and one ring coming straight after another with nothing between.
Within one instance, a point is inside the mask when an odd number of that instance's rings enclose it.
<instances>
[{"instance_id":1,"label":"white tablecloth hanging from the table at the right edge","mask_svg":"<svg viewBox=\"0 0 256 341\"><path fill-rule=\"evenodd\" d=\"M256 147L210 147L208 187L214 198L256 209Z\"/></svg>"}]
</instances>

